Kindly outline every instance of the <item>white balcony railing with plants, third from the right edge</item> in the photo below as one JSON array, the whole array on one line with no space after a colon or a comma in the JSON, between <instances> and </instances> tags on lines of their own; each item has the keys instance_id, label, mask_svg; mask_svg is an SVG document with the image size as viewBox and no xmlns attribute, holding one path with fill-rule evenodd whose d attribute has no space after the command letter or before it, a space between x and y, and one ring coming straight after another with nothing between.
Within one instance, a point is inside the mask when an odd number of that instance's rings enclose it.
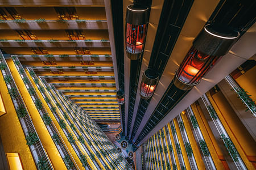
<instances>
[{"instance_id":1,"label":"white balcony railing with plants, third from the right edge","mask_svg":"<svg viewBox=\"0 0 256 170\"><path fill-rule=\"evenodd\" d=\"M190 106L187 108L187 113L188 113L189 120L191 121L191 116L194 116L194 113L193 113L192 108ZM203 147L200 144L201 140L204 141L203 134L201 133L201 130L200 130L199 126L197 128L194 128L194 126L193 126L193 129L194 129L195 134L196 134L197 142L199 143L199 146L200 146L201 150L203 151ZM207 149L209 150L208 147L207 147ZM216 170L216 167L214 165L212 156L210 156L210 154L209 154L209 156L206 156L206 155L204 155L204 153L203 153L203 156L204 156L204 160L205 160L205 164L206 164L205 167L208 168L209 170Z\"/></svg>"}]
</instances>

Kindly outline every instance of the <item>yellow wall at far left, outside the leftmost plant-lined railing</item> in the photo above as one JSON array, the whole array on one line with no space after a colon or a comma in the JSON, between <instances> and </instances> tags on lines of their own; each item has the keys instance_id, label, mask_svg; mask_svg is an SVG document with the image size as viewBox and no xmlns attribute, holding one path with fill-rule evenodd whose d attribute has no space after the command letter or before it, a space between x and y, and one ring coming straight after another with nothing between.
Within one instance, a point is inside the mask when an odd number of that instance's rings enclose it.
<instances>
[{"instance_id":1,"label":"yellow wall at far left, outside the leftmost plant-lined railing","mask_svg":"<svg viewBox=\"0 0 256 170\"><path fill-rule=\"evenodd\" d=\"M13 101L0 72L0 92L3 96L3 104L6 108L6 114L0 117L0 133L5 152L19 153L24 169L36 169L36 165L30 148L26 145L27 141L19 123Z\"/></svg>"}]
</instances>

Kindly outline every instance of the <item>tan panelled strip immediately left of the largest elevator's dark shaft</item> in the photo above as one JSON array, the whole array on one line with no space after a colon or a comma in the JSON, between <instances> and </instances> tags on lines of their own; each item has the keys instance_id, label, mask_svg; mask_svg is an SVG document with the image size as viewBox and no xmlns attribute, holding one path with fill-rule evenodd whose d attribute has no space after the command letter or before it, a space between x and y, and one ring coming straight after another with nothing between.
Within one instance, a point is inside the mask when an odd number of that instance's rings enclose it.
<instances>
[{"instance_id":1,"label":"tan panelled strip immediately left of the largest elevator's dark shaft","mask_svg":"<svg viewBox=\"0 0 256 170\"><path fill-rule=\"evenodd\" d=\"M181 29L180 36L176 41L174 49L172 50L170 59L168 60L162 77L160 78L158 86L156 87L154 96L152 97L150 104L148 105L141 125L139 126L137 134L134 137L134 141L135 139L137 139L141 131L140 129L144 127L144 125L148 121L148 118L150 118L152 112L154 112L154 109L158 105L160 99L164 95L164 92L174 78L174 73L176 69L179 67L179 64L183 61L188 50L191 48L192 42L195 37L204 27L205 23L210 18L210 15L212 15L212 12L216 8L218 2L219 1L208 2L204 0L196 0L193 3L191 10L189 11L188 17L183 25L183 28ZM137 110L134 112L137 112Z\"/></svg>"}]
</instances>

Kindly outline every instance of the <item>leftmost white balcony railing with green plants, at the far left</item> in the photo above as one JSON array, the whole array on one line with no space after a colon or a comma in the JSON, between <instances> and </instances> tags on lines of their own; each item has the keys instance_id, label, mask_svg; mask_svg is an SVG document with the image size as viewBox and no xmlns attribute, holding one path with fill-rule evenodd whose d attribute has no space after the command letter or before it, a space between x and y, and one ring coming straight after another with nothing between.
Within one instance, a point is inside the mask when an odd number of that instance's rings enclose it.
<instances>
[{"instance_id":1,"label":"leftmost white balcony railing with green plants, at the far left","mask_svg":"<svg viewBox=\"0 0 256 170\"><path fill-rule=\"evenodd\" d=\"M18 87L16 86L14 79L13 79L13 75L11 75L10 73L10 69L9 66L7 65L5 58L3 57L2 52L0 51L0 64L1 65L6 65L6 69L2 69L2 74L3 76L10 76L11 77L11 82L7 85L8 90L13 88L15 90L16 96L15 97L11 97L11 99L13 100L13 104L15 109L18 109L19 107L24 107L26 109L26 116L23 118L19 117L19 121L20 121L20 125L22 126L24 135L27 137L27 133L28 131L31 131L32 133L36 134L36 137L38 138L38 141L36 143L34 143L33 145L29 146L30 150L31 150L31 154L34 158L34 161L36 163L36 165L38 165L39 163L39 159L40 158L44 158L44 160L46 160L46 165L45 167L48 169L53 169L51 162L48 159L48 156L43 148L43 145L40 141L40 138L38 136L38 133L36 133L35 127L32 123L32 120L28 114L27 108L24 105L24 101L22 100L22 97L19 93Z\"/></svg>"}]
</instances>

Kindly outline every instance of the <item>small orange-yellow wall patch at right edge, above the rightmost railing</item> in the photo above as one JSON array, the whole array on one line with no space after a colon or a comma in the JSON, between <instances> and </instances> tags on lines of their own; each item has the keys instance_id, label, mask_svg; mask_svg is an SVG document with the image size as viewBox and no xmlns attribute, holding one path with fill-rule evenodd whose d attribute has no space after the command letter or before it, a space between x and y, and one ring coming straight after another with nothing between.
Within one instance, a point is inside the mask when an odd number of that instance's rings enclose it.
<instances>
[{"instance_id":1,"label":"small orange-yellow wall patch at right edge, above the rightmost railing","mask_svg":"<svg viewBox=\"0 0 256 170\"><path fill-rule=\"evenodd\" d=\"M253 101L256 100L256 78L255 78L255 73L256 73L256 67L254 66L252 69L246 71L245 74L242 74L240 77L236 79L237 83L247 92L248 94L251 95L251 99Z\"/></svg>"}]
</instances>

